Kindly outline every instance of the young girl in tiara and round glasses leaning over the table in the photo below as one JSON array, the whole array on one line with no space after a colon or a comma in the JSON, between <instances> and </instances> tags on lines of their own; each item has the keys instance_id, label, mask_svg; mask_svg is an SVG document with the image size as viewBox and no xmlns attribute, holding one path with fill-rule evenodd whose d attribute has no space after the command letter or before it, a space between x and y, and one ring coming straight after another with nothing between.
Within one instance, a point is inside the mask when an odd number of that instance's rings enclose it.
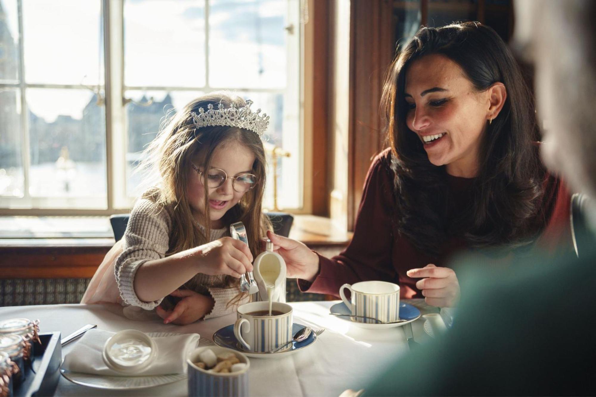
<instances>
[{"instance_id":1,"label":"young girl in tiara and round glasses leaning over the table","mask_svg":"<svg viewBox=\"0 0 596 397\"><path fill-rule=\"evenodd\" d=\"M159 183L132 209L81 303L156 309L164 323L189 324L248 299L238 278L252 271L260 237L269 117L251 101L212 93L179 111L148 148ZM243 222L249 246L229 236ZM164 302L164 297L168 296ZM177 300L173 305L170 300ZM166 304L167 303L167 304Z\"/></svg>"}]
</instances>

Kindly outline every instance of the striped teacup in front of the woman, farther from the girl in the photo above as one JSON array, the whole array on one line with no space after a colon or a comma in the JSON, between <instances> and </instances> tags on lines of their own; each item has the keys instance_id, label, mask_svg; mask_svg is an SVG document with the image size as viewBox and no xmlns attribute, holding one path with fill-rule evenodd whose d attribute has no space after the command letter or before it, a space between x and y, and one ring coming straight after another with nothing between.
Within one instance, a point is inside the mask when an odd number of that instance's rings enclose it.
<instances>
[{"instance_id":1,"label":"striped teacup in front of the woman, farther from the girl","mask_svg":"<svg viewBox=\"0 0 596 397\"><path fill-rule=\"evenodd\" d=\"M344 290L349 289L347 300ZM399 286L386 281L361 281L350 286L343 284L339 294L353 316L376 318L382 322L399 320ZM378 321L353 317L354 321L378 324Z\"/></svg>"}]
</instances>

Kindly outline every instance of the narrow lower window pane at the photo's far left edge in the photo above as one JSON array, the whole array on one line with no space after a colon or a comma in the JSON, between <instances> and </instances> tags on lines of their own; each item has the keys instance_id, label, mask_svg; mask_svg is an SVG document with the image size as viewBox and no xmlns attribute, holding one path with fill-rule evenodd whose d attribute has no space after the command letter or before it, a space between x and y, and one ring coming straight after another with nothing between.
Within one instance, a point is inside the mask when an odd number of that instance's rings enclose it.
<instances>
[{"instance_id":1,"label":"narrow lower window pane at the photo's far left edge","mask_svg":"<svg viewBox=\"0 0 596 397\"><path fill-rule=\"evenodd\" d=\"M0 196L23 196L20 117L18 91L0 91Z\"/></svg>"}]
</instances>

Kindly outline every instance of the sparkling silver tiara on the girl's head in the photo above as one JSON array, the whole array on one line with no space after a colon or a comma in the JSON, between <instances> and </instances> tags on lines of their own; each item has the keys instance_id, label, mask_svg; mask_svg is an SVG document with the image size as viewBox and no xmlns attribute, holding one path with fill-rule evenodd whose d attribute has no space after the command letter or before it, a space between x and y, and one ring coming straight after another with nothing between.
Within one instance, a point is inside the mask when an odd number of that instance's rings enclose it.
<instances>
[{"instance_id":1,"label":"sparkling silver tiara on the girl's head","mask_svg":"<svg viewBox=\"0 0 596 397\"><path fill-rule=\"evenodd\" d=\"M212 104L207 105L207 111L202 107L198 108L198 114L191 112L193 116L193 123L196 128L221 125L229 127L245 128L253 131L259 137L263 136L263 132L269 125L269 116L266 113L262 115L260 109L257 109L256 113L250 110L250 106L253 101L247 100L246 106L236 108L236 104L230 104L229 108L224 108L223 104L218 105L218 109L215 110Z\"/></svg>"}]
</instances>

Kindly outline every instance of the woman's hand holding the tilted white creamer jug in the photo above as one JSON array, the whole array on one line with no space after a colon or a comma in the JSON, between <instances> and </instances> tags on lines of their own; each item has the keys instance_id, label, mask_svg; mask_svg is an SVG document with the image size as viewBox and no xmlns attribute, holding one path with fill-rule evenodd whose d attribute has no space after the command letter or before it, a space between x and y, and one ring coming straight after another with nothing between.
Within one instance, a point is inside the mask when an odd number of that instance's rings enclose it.
<instances>
[{"instance_id":1,"label":"woman's hand holding the tilted white creamer jug","mask_svg":"<svg viewBox=\"0 0 596 397\"><path fill-rule=\"evenodd\" d=\"M267 231L267 237L273 243L273 250L284 258L287 277L311 282L315 280L319 272L319 257L316 253L300 241L281 237L271 230Z\"/></svg>"}]
</instances>

